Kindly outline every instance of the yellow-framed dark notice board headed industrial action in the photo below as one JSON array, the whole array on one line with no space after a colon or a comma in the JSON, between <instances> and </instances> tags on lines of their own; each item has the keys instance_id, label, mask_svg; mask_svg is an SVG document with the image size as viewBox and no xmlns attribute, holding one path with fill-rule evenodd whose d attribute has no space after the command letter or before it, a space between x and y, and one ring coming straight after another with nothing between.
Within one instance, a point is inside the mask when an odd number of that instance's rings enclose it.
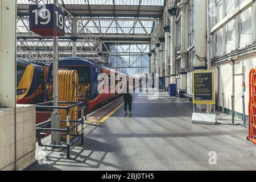
<instances>
[{"instance_id":1,"label":"yellow-framed dark notice board headed industrial action","mask_svg":"<svg viewBox=\"0 0 256 182\"><path fill-rule=\"evenodd\" d=\"M214 71L192 73L193 104L215 104Z\"/></svg>"}]
</instances>

